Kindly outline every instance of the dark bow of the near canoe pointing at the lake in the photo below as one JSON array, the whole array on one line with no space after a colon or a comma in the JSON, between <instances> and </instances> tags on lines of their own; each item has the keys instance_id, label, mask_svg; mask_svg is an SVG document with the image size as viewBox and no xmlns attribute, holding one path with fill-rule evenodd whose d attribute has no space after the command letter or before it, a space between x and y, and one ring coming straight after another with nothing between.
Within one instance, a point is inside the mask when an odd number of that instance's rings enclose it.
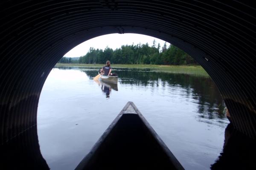
<instances>
[{"instance_id":1,"label":"dark bow of the near canoe pointing at the lake","mask_svg":"<svg viewBox=\"0 0 256 170\"><path fill-rule=\"evenodd\" d=\"M133 102L128 102L76 170L183 170Z\"/></svg>"}]
</instances>

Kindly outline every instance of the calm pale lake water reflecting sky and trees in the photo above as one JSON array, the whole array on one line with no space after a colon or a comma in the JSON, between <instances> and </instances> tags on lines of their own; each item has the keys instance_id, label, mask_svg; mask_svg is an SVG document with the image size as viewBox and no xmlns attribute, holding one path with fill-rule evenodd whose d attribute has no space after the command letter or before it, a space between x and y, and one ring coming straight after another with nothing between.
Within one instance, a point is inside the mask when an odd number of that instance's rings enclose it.
<instances>
[{"instance_id":1,"label":"calm pale lake water reflecting sky and trees","mask_svg":"<svg viewBox=\"0 0 256 170\"><path fill-rule=\"evenodd\" d=\"M98 68L53 68L38 105L41 153L52 170L72 170L128 101L186 170L206 170L224 144L224 101L208 77L116 69L116 86L93 81Z\"/></svg>"}]
</instances>

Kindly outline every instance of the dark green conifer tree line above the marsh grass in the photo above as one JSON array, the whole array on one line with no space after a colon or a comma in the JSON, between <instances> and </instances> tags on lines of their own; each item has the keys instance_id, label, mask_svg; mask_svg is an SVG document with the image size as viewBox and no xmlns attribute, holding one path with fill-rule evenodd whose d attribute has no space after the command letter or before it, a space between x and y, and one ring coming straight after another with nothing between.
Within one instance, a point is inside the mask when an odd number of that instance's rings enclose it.
<instances>
[{"instance_id":1,"label":"dark green conifer tree line above the marsh grass","mask_svg":"<svg viewBox=\"0 0 256 170\"><path fill-rule=\"evenodd\" d=\"M79 60L71 60L63 57L60 63L84 63L105 64L110 60L112 64L155 64L155 65L197 65L197 62L174 45L167 47L166 42L160 48L160 44L122 45L121 48L113 50L108 46L102 49L91 47L87 54L79 57Z\"/></svg>"}]
</instances>

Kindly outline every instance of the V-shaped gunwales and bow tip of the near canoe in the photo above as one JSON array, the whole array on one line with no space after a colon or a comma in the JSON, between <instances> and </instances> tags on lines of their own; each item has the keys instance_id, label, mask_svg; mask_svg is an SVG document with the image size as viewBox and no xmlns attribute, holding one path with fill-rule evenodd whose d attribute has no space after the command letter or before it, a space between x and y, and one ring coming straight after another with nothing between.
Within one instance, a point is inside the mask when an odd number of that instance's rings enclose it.
<instances>
[{"instance_id":1,"label":"V-shaped gunwales and bow tip of the near canoe","mask_svg":"<svg viewBox=\"0 0 256 170\"><path fill-rule=\"evenodd\" d=\"M109 134L113 130L113 128L116 126L116 124L119 122L119 120L123 116L138 116L139 119L144 123L145 127L148 129L149 133L154 137L154 140L157 141L157 143L160 146L160 149L166 154L169 161L173 164L172 169L175 170L184 170L180 162L175 158L175 156L172 154L172 152L169 150L169 148L164 144L162 139L157 135L157 133L154 131L154 129L149 125L149 123L146 121L146 119L143 117L143 115L140 113L140 111L137 109L137 107L134 105L133 102L128 102L125 107L122 109L122 111L116 116L116 118L113 120L111 125L105 130L105 132L102 134L102 136L99 138L99 140L94 144L93 148L91 149L90 153L87 154L87 156L82 159L82 161L79 163L79 165L76 167L76 170L84 170L84 169L91 169L88 168L87 164L90 164L94 158L93 156L96 153L99 153L99 149L102 144L104 144L105 140L108 138ZM112 135L112 134L111 134ZM86 167L86 168L85 168ZM92 168L93 169L93 168Z\"/></svg>"}]
</instances>

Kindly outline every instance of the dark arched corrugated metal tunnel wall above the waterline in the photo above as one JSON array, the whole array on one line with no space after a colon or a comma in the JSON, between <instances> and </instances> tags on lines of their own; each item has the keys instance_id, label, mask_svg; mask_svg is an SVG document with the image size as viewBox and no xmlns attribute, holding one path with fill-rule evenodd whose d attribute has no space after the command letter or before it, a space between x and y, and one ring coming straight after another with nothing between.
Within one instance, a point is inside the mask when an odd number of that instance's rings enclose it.
<instances>
[{"instance_id":1,"label":"dark arched corrugated metal tunnel wall above the waterline","mask_svg":"<svg viewBox=\"0 0 256 170\"><path fill-rule=\"evenodd\" d=\"M3 0L0 2L0 142L36 125L55 63L85 40L137 33L196 59L217 85L234 126L256 138L256 8L239 1Z\"/></svg>"}]
</instances>

